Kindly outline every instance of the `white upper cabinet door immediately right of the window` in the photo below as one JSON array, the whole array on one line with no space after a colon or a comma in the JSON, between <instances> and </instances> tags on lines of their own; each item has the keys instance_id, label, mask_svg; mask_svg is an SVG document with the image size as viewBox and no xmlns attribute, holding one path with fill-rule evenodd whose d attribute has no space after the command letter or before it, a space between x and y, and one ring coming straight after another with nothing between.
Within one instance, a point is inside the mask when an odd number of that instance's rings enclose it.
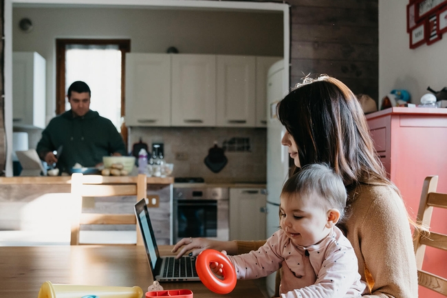
<instances>
[{"instance_id":1,"label":"white upper cabinet door immediately right of the window","mask_svg":"<svg viewBox=\"0 0 447 298\"><path fill-rule=\"evenodd\" d=\"M171 125L171 54L126 54L128 127Z\"/></svg>"}]
</instances>

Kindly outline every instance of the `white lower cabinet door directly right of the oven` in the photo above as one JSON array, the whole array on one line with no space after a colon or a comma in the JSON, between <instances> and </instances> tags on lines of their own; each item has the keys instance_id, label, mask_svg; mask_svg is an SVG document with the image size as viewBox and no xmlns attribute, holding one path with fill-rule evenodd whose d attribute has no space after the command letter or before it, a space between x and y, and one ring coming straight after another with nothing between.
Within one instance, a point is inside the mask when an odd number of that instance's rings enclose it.
<instances>
[{"instance_id":1,"label":"white lower cabinet door directly right of the oven","mask_svg":"<svg viewBox=\"0 0 447 298\"><path fill-rule=\"evenodd\" d=\"M230 188L230 240L265 238L264 189Z\"/></svg>"}]
</instances>

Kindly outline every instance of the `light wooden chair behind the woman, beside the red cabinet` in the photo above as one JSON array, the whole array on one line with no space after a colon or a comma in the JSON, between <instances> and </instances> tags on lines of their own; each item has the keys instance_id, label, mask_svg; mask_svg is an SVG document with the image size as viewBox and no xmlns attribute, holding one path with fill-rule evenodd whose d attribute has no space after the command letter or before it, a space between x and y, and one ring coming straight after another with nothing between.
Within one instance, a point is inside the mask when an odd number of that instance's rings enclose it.
<instances>
[{"instance_id":1,"label":"light wooden chair behind the woman, beside the red cabinet","mask_svg":"<svg viewBox=\"0 0 447 298\"><path fill-rule=\"evenodd\" d=\"M425 178L422 187L422 195L419 202L419 210L417 212L417 223L422 224L422 226L425 227L430 226L434 207L447 209L447 193L436 192L437 180L438 176L428 176ZM419 285L434 290L447 297L447 279L422 270L426 246L447 251L447 235L430 231L415 230L414 236L413 245L415 248Z\"/></svg>"}]
</instances>

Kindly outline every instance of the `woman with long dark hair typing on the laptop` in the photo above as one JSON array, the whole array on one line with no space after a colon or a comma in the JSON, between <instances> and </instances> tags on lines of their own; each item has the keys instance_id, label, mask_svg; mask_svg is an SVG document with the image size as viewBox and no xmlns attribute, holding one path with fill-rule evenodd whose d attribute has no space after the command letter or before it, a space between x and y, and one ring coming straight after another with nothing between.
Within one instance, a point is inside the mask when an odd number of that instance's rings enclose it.
<instances>
[{"instance_id":1,"label":"woman with long dark hair typing on the laptop","mask_svg":"<svg viewBox=\"0 0 447 298\"><path fill-rule=\"evenodd\" d=\"M359 273L369 287L364 297L417 297L417 270L411 228L400 192L386 178L369 136L357 98L336 78L305 78L279 103L278 118L287 129L296 171L326 162L342 176L348 192L345 231L358 258ZM178 255L206 248L228 254L248 253L260 242L217 242L185 238Z\"/></svg>"}]
</instances>

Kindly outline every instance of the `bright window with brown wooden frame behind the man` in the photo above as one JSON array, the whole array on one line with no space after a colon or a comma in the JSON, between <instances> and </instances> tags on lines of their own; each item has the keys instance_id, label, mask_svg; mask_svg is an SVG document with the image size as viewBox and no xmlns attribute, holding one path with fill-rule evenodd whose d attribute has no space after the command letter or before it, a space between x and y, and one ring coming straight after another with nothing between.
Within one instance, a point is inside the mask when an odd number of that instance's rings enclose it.
<instances>
[{"instance_id":1,"label":"bright window with brown wooden frame behind the man","mask_svg":"<svg viewBox=\"0 0 447 298\"><path fill-rule=\"evenodd\" d=\"M74 81L91 89L90 108L120 130L124 116L124 59L130 40L56 40L56 114L69 109L65 94Z\"/></svg>"}]
</instances>

